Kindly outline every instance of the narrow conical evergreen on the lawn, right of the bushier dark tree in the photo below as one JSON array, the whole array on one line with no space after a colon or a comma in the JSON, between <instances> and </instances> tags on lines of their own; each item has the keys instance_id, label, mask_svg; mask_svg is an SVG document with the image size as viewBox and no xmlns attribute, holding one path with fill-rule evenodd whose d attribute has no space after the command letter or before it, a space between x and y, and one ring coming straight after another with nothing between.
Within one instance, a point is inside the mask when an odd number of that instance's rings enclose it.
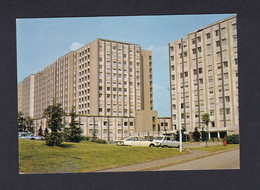
<instances>
[{"instance_id":1,"label":"narrow conical evergreen on the lawn, right of the bushier dark tree","mask_svg":"<svg viewBox=\"0 0 260 190\"><path fill-rule=\"evenodd\" d=\"M82 129L80 128L80 123L76 121L77 115L72 109L70 113L71 121L69 123L70 128L65 129L65 134L67 136L68 141L70 142L80 142L81 141L81 133Z\"/></svg>"}]
</instances>

